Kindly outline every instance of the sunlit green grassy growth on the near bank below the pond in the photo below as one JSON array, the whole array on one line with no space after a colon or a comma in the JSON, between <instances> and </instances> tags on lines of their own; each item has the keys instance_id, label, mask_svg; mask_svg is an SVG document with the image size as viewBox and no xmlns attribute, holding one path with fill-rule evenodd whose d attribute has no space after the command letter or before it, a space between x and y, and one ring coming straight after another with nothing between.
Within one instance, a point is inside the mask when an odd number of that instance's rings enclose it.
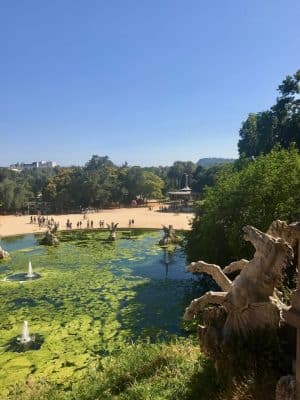
<instances>
[{"instance_id":1,"label":"sunlit green grassy growth on the near bank below the pond","mask_svg":"<svg viewBox=\"0 0 300 400\"><path fill-rule=\"evenodd\" d=\"M190 340L138 342L107 357L69 390L30 381L9 400L206 400L220 391L212 363Z\"/></svg>"}]
</instances>

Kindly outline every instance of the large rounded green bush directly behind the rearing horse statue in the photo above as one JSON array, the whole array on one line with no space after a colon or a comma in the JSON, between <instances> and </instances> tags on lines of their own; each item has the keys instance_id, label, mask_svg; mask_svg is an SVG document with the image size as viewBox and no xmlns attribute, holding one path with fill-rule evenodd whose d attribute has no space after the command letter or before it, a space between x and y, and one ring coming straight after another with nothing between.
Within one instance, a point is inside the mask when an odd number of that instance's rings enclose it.
<instances>
[{"instance_id":1,"label":"large rounded green bush directly behind the rearing horse statue","mask_svg":"<svg viewBox=\"0 0 300 400\"><path fill-rule=\"evenodd\" d=\"M296 149L274 149L255 160L240 160L219 172L215 186L198 203L187 234L190 260L226 264L249 257L253 249L242 227L265 231L274 219L300 217L300 155Z\"/></svg>"}]
</instances>

